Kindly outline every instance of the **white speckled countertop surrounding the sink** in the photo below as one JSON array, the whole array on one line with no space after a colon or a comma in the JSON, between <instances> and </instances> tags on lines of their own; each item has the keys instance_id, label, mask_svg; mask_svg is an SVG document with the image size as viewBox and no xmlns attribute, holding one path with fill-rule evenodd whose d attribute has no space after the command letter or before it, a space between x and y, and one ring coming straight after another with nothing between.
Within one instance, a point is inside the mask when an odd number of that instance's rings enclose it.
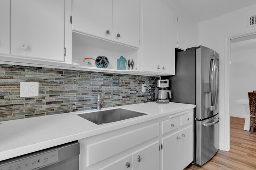
<instances>
[{"instance_id":1,"label":"white speckled countertop surrounding the sink","mask_svg":"<svg viewBox=\"0 0 256 170\"><path fill-rule=\"evenodd\" d=\"M196 106L191 104L157 104L156 102L111 107L107 109L123 108L147 115L103 125L96 125L77 115L97 110L2 121L0 122L0 161L166 115L174 115L194 107Z\"/></svg>"}]
</instances>

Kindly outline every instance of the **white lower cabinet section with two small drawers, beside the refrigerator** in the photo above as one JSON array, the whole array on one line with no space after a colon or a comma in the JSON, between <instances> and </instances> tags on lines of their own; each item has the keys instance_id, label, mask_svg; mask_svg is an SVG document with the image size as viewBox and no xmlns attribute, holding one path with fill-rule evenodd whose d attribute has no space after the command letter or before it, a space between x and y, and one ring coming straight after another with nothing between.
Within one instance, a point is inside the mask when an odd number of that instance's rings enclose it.
<instances>
[{"instance_id":1,"label":"white lower cabinet section with two small drawers, beside the refrigerator","mask_svg":"<svg viewBox=\"0 0 256 170\"><path fill-rule=\"evenodd\" d=\"M193 110L188 112L162 122L162 170L183 170L193 161Z\"/></svg>"}]
</instances>

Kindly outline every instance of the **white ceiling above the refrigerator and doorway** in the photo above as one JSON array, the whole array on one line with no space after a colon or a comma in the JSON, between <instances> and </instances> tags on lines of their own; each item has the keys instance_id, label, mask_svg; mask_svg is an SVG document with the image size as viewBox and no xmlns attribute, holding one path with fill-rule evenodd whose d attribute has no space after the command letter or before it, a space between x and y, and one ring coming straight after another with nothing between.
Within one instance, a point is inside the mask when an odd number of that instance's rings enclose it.
<instances>
[{"instance_id":1,"label":"white ceiling above the refrigerator and doorway","mask_svg":"<svg viewBox=\"0 0 256 170\"><path fill-rule=\"evenodd\" d=\"M172 0L198 22L256 4L256 0Z\"/></svg>"}]
</instances>

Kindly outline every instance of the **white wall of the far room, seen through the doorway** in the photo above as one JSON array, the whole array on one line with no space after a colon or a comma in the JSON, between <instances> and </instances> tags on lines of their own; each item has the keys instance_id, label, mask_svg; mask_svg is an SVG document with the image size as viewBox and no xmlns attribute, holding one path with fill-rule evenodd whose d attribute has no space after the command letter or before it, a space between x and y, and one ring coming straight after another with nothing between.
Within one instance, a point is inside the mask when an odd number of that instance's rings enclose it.
<instances>
[{"instance_id":1,"label":"white wall of the far room, seen through the doorway","mask_svg":"<svg viewBox=\"0 0 256 170\"><path fill-rule=\"evenodd\" d=\"M230 115L245 118L245 107L235 101L248 100L248 92L256 90L256 46L237 51L233 49L233 44L230 53Z\"/></svg>"}]
</instances>

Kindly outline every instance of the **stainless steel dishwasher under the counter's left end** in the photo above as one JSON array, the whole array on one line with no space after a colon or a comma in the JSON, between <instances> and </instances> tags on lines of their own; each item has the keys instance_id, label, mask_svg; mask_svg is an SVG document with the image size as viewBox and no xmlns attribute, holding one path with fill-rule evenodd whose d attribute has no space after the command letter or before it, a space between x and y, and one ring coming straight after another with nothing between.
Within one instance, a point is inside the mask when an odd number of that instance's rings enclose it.
<instances>
[{"instance_id":1,"label":"stainless steel dishwasher under the counter's left end","mask_svg":"<svg viewBox=\"0 0 256 170\"><path fill-rule=\"evenodd\" d=\"M0 170L78 170L79 154L74 141L0 161Z\"/></svg>"}]
</instances>

